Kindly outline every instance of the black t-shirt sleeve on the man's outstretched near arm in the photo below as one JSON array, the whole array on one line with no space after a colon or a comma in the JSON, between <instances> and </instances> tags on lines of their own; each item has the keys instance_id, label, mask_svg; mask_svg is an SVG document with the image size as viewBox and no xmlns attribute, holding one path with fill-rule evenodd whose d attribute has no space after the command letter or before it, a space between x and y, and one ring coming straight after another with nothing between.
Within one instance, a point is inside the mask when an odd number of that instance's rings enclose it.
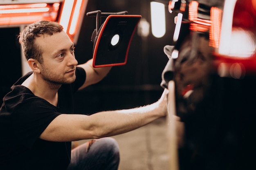
<instances>
[{"instance_id":1,"label":"black t-shirt sleeve on the man's outstretched near arm","mask_svg":"<svg viewBox=\"0 0 256 170\"><path fill-rule=\"evenodd\" d=\"M47 126L61 113L43 99L30 98L13 112L13 128L17 142L31 148Z\"/></svg>"}]
</instances>

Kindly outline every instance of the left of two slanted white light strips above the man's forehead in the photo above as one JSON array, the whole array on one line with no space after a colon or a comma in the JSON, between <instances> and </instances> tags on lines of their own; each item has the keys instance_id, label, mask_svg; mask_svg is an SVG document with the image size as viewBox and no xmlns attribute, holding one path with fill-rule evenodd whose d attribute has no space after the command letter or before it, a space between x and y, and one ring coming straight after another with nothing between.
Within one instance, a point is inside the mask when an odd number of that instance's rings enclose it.
<instances>
[{"instance_id":1,"label":"left of two slanted white light strips above the man's forehead","mask_svg":"<svg viewBox=\"0 0 256 170\"><path fill-rule=\"evenodd\" d=\"M64 31L67 32L67 27L70 19L70 15L72 12L72 7L74 4L74 0L65 0L62 13L61 13L61 19L60 19L60 24L63 26Z\"/></svg>"}]
</instances>

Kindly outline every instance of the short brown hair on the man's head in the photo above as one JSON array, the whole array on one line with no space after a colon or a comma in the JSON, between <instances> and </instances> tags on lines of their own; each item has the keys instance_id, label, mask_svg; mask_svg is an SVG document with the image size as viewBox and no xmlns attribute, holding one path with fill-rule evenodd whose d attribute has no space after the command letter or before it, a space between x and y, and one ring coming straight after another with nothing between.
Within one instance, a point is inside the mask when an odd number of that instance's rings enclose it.
<instances>
[{"instance_id":1,"label":"short brown hair on the man's head","mask_svg":"<svg viewBox=\"0 0 256 170\"><path fill-rule=\"evenodd\" d=\"M33 58L38 60L38 62L43 63L42 51L40 50L40 46L37 46L34 43L34 40L40 35L53 35L62 30L63 26L57 22L45 20L34 22L27 26L18 37L26 59L29 60L29 58Z\"/></svg>"}]
</instances>

